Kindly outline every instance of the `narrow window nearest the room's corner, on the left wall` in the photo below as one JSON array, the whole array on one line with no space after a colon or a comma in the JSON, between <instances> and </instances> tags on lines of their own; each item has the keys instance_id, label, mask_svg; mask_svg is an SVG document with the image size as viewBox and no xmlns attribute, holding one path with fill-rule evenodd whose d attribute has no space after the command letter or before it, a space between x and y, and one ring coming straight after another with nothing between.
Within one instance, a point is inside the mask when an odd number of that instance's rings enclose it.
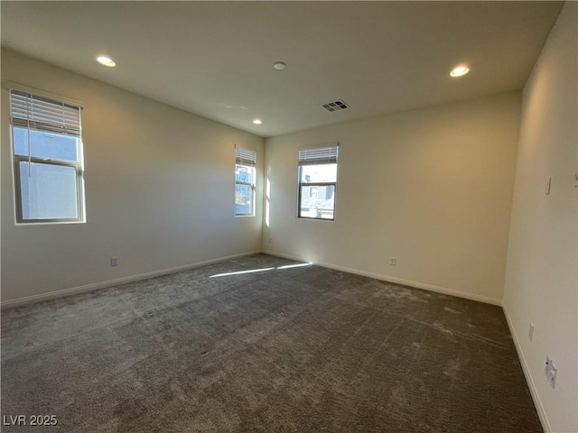
<instances>
[{"instance_id":1,"label":"narrow window nearest the room's corner, on the left wall","mask_svg":"<svg viewBox=\"0 0 578 433\"><path fill-rule=\"evenodd\" d=\"M235 215L254 217L256 152L237 147L235 158Z\"/></svg>"}]
</instances>

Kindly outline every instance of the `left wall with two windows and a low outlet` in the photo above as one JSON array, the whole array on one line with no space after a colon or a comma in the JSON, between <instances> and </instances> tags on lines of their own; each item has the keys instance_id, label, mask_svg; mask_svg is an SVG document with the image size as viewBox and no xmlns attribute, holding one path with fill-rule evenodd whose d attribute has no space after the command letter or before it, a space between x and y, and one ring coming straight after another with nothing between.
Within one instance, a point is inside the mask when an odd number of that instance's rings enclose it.
<instances>
[{"instance_id":1,"label":"left wall with two windows and a low outlet","mask_svg":"<svg viewBox=\"0 0 578 433\"><path fill-rule=\"evenodd\" d=\"M260 249L263 138L14 51L2 79L3 305ZM86 224L14 224L6 80L84 104ZM256 217L234 217L234 143L257 152Z\"/></svg>"}]
</instances>

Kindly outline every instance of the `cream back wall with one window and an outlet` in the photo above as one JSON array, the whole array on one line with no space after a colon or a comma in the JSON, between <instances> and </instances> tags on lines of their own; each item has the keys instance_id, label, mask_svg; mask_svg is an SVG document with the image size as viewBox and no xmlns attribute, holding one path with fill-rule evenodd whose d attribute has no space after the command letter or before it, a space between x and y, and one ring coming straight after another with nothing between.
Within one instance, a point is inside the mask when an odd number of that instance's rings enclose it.
<instances>
[{"instance_id":1,"label":"cream back wall with one window and an outlet","mask_svg":"<svg viewBox=\"0 0 578 433\"><path fill-rule=\"evenodd\" d=\"M500 303L519 110L513 92L266 139L263 248ZM297 219L297 149L330 142L335 222Z\"/></svg>"}]
</instances>

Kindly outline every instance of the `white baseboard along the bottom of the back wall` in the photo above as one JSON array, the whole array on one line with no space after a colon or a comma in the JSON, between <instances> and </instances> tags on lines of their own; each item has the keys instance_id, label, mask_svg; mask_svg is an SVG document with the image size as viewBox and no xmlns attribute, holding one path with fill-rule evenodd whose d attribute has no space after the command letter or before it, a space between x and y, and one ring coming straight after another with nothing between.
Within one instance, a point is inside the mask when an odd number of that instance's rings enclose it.
<instances>
[{"instance_id":1,"label":"white baseboard along the bottom of the back wall","mask_svg":"<svg viewBox=\"0 0 578 433\"><path fill-rule=\"evenodd\" d=\"M295 257L295 256L284 254L284 253L276 253L274 251L268 251L268 250L263 250L262 253L266 253L266 254L270 254L270 255L276 255L279 257L284 257L285 259L303 262L303 259L301 259L299 257ZM447 289L445 287L434 286L433 284L427 284L424 282L403 280L401 278L390 277L388 275L383 275L381 273L361 271L359 269L348 268L346 266L340 266L340 265L332 264L332 263L319 262L319 263L312 263L312 264L316 264L316 265L322 266L324 268L335 269L337 271L355 273L358 275L363 275L364 277L375 278L376 280L394 282L396 284L402 284L404 286L415 287L416 289L436 291L438 293L443 293L445 295L457 296L458 298L477 300L480 302L485 302L487 304L498 305L499 307L502 306L502 300L501 299L490 298L489 296L477 295L475 293L468 293L466 291L461 291L461 290Z\"/></svg>"}]
</instances>

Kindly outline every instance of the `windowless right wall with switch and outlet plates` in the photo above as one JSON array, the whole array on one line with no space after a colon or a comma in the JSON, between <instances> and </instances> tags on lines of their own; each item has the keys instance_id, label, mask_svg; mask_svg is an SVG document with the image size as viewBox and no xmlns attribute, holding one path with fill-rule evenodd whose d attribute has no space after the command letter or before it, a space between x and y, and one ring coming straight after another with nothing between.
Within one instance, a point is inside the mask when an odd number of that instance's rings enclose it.
<instances>
[{"instance_id":1,"label":"windowless right wall with switch and outlet plates","mask_svg":"<svg viewBox=\"0 0 578 433\"><path fill-rule=\"evenodd\" d=\"M577 20L577 4L566 3L524 88L504 294L538 410L555 432L578 431ZM558 368L555 389L546 354Z\"/></svg>"}]
</instances>

